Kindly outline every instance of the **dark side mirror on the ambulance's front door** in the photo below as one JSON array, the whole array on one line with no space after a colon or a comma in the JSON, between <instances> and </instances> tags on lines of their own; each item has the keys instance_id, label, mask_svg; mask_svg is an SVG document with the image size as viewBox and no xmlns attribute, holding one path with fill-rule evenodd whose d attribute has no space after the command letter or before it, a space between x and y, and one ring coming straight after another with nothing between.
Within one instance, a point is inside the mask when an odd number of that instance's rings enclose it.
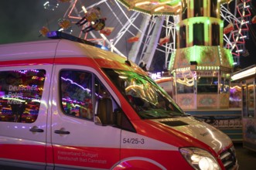
<instances>
[{"instance_id":1,"label":"dark side mirror on the ambulance's front door","mask_svg":"<svg viewBox=\"0 0 256 170\"><path fill-rule=\"evenodd\" d=\"M102 98L97 101L97 114L95 115L94 122L101 125L114 123L111 98Z\"/></svg>"}]
</instances>

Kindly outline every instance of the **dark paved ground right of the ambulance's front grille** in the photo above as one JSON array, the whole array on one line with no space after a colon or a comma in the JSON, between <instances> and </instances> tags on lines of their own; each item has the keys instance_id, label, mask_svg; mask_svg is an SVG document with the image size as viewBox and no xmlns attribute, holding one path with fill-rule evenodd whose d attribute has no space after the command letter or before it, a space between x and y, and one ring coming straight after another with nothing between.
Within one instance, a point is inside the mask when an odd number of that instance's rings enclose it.
<instances>
[{"instance_id":1,"label":"dark paved ground right of the ambulance's front grille","mask_svg":"<svg viewBox=\"0 0 256 170\"><path fill-rule=\"evenodd\" d=\"M243 148L242 143L235 143L239 170L256 170L256 151Z\"/></svg>"}]
</instances>

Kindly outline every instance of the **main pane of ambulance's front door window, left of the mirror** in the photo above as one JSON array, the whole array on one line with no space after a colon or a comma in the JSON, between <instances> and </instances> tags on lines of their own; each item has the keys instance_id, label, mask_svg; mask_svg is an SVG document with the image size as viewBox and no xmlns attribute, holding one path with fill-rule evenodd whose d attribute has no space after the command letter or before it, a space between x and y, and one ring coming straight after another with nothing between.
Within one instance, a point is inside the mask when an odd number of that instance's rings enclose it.
<instances>
[{"instance_id":1,"label":"main pane of ambulance's front door window, left of the mirror","mask_svg":"<svg viewBox=\"0 0 256 170\"><path fill-rule=\"evenodd\" d=\"M93 120L91 73L80 70L62 70L60 90L64 114Z\"/></svg>"}]
</instances>

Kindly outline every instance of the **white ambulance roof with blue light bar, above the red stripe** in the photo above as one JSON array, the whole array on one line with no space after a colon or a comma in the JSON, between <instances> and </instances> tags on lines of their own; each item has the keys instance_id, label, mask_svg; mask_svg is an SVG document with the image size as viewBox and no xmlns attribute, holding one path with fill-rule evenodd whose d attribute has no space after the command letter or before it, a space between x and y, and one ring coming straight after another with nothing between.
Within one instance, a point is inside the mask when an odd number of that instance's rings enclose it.
<instances>
[{"instance_id":1,"label":"white ambulance roof with blue light bar, above the red stripe","mask_svg":"<svg viewBox=\"0 0 256 170\"><path fill-rule=\"evenodd\" d=\"M55 34L56 32L51 33ZM77 60L93 59L100 67L137 70L142 73L142 70L135 63L131 62L131 66L129 66L125 57L104 50L103 46L67 34L63 34L64 37L60 35L57 33L55 36L49 37L51 38L49 40L0 45L0 65L12 64L9 61L21 61L19 63L22 63L22 60L35 59L48 59L48 63L53 63L54 59L77 59L78 57L81 59Z\"/></svg>"}]
</instances>

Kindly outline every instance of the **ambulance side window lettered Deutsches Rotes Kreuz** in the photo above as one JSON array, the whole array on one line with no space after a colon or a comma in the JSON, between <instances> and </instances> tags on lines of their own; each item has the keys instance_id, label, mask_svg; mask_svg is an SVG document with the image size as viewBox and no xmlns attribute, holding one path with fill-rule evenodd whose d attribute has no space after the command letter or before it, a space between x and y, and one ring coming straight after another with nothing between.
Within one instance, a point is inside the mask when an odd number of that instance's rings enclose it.
<instances>
[{"instance_id":1,"label":"ambulance side window lettered Deutsches Rotes Kreuz","mask_svg":"<svg viewBox=\"0 0 256 170\"><path fill-rule=\"evenodd\" d=\"M0 121L36 121L45 77L45 70L1 71Z\"/></svg>"}]
</instances>

